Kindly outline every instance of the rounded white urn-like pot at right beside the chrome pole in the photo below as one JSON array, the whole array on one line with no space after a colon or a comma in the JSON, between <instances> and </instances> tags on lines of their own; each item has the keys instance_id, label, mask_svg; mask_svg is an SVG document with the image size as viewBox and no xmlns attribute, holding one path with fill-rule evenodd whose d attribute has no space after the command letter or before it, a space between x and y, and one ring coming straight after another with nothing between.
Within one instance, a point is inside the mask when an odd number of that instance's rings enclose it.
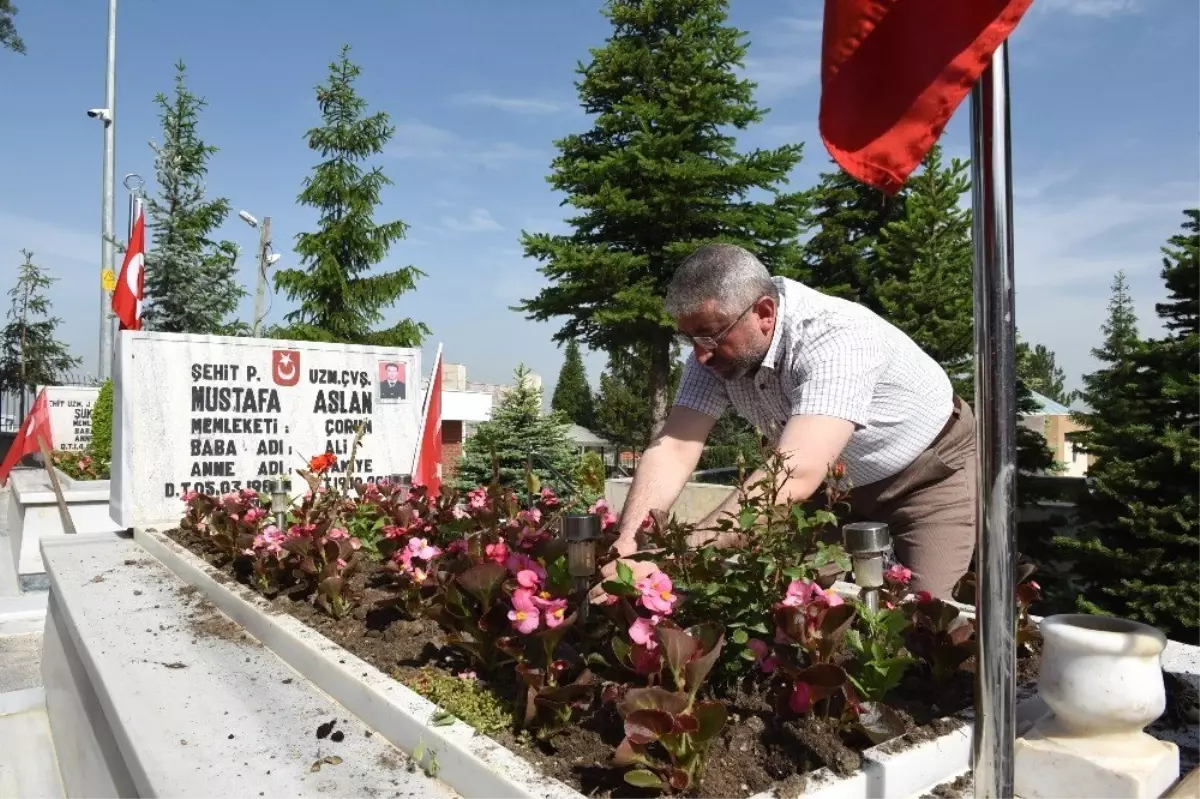
<instances>
[{"instance_id":1,"label":"rounded white urn-like pot at right beside the chrome pole","mask_svg":"<svg viewBox=\"0 0 1200 799\"><path fill-rule=\"evenodd\" d=\"M1058 725L1076 735L1140 733L1163 715L1166 636L1103 615L1051 615L1042 630L1038 692Z\"/></svg>"}]
</instances>

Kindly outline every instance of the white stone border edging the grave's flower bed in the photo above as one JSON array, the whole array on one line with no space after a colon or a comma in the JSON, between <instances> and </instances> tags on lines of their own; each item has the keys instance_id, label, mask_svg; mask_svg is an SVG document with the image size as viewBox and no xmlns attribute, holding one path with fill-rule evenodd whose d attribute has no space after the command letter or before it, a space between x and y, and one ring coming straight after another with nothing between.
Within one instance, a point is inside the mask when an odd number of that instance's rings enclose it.
<instances>
[{"instance_id":1,"label":"white stone border edging the grave's flower bed","mask_svg":"<svg viewBox=\"0 0 1200 799\"><path fill-rule=\"evenodd\" d=\"M168 527L172 525L161 525L160 529ZM586 774L589 768L587 763L583 763L582 768L568 769L568 773L583 773L582 779L571 780L576 785L545 776L538 768L545 765L550 758L539 756L536 750L512 739L506 732L497 737L506 744L504 746L498 740L476 733L458 720L448 726L431 723L444 715L442 709L394 675L384 673L318 632L314 627L322 626L319 619L325 617L317 614L306 617L305 620L312 621L310 626L298 618L304 613L296 613L281 602L295 606L302 603L264 599L250 587L240 584L230 572L214 567L158 529L136 529L134 535L148 552L173 572L203 591L251 635L392 744L406 752L413 752L420 745L426 757L430 752L436 752L439 776L468 799L470 797L574 799L584 793L625 795L625 791L619 788L612 793L602 793L600 789L593 793L593 788L598 786L587 782ZM844 585L842 589L852 590L848 585ZM420 625L412 621L407 624L418 627ZM414 637L420 637L420 632L416 627L404 627L401 635L416 633ZM1019 698L1020 723L1032 723L1042 713L1032 687L1024 687ZM816 799L919 797L932 786L953 780L970 768L971 716L971 710L964 710L901 739L866 749L862 752L858 768L844 768L842 774L835 774L829 768L816 768L799 777L769 785L730 785L728 775L722 774L722 768L728 764L722 764L714 752L704 783L721 786L721 793L713 795L752 794L755 799L799 795L800 791L804 797ZM728 751L736 753L738 750ZM563 755L558 757L557 771L562 774L563 761L568 758ZM602 764L596 763L595 767L599 770ZM551 768L553 769L553 763ZM581 787L582 792L578 789ZM605 789L611 786L605 786ZM636 792L629 795L644 794Z\"/></svg>"}]
</instances>

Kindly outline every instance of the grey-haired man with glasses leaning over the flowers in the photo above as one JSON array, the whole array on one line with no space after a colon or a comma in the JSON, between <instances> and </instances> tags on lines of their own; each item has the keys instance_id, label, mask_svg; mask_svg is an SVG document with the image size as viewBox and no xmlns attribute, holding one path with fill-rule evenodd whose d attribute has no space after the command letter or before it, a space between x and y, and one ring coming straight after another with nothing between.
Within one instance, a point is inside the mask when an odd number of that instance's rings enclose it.
<instances>
[{"instance_id":1,"label":"grey-haired man with glasses leaning over the flowers","mask_svg":"<svg viewBox=\"0 0 1200 799\"><path fill-rule=\"evenodd\" d=\"M732 245L701 247L684 260L666 310L692 353L674 407L638 463L617 552L635 552L646 513L674 504L732 405L785 456L781 500L808 499L840 461L853 518L888 523L913 590L948 597L974 549L976 435L971 408L941 366L865 307L772 278ZM700 528L737 501L731 494Z\"/></svg>"}]
</instances>

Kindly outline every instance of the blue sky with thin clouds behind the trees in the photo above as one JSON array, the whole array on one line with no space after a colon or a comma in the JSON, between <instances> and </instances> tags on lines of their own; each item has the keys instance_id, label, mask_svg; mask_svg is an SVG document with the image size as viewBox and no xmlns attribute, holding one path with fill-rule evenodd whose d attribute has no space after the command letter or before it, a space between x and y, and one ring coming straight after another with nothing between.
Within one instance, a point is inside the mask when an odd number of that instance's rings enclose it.
<instances>
[{"instance_id":1,"label":"blue sky with thin clouds behind the trees","mask_svg":"<svg viewBox=\"0 0 1200 799\"><path fill-rule=\"evenodd\" d=\"M101 128L85 110L104 102L103 0L19 4L29 48L0 54L0 283L7 290L32 250L59 282L62 334L95 370L98 319ZM350 10L353 6L353 11ZM156 92L173 64L206 98L200 134L220 148L209 188L233 208L271 216L281 265L314 215L296 205L317 162L304 142L318 124L313 86L343 42L362 67L359 90L397 125L380 160L395 186L379 218L412 226L389 263L427 272L395 316L433 329L448 361L472 379L506 382L517 362L547 386L562 355L557 329L508 307L542 281L521 257L526 230L565 230L546 185L553 140L588 127L572 82L577 61L608 34L599 2L356 2L121 0L118 31L116 175L148 179L158 136ZM817 0L733 0L748 31L746 73L767 120L743 146L804 142L793 185L811 185L829 158L816 136ZM1200 205L1200 104L1192 0L1034 0L1012 38L1018 323L1058 354L1070 385L1092 368L1109 284L1128 272L1144 331L1157 330L1159 247L1183 208ZM964 104L943 143L966 157ZM125 229L118 192L118 230ZM235 215L221 232L242 247L252 289L257 233ZM242 307L250 317L251 298ZM269 320L281 318L276 298ZM426 361L428 364L428 361ZM593 383L604 365L590 355Z\"/></svg>"}]
</instances>

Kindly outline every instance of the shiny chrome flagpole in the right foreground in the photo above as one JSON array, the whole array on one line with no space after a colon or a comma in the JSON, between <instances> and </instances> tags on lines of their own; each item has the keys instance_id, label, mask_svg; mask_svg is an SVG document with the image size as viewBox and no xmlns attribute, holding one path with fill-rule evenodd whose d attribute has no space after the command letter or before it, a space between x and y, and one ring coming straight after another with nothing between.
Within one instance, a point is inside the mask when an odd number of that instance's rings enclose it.
<instances>
[{"instance_id":1,"label":"shiny chrome flagpole in the right foreground","mask_svg":"<svg viewBox=\"0 0 1200 799\"><path fill-rule=\"evenodd\" d=\"M1008 44L971 92L979 654L974 795L1012 799L1016 738L1016 368Z\"/></svg>"}]
</instances>

